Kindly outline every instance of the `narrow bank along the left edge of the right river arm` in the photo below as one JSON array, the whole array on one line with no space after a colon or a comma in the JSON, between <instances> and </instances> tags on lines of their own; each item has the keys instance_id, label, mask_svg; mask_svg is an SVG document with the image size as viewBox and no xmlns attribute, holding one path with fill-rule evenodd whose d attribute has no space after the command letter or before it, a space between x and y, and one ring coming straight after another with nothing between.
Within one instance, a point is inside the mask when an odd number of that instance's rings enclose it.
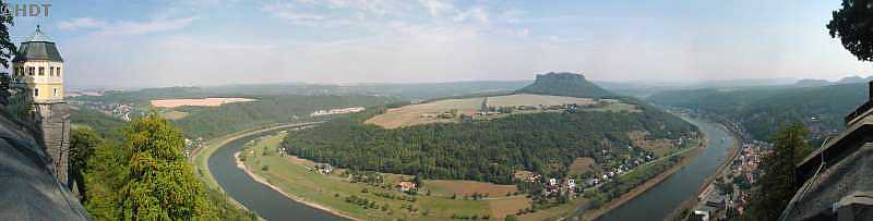
<instances>
[{"instance_id":1,"label":"narrow bank along the left edge of the right river arm","mask_svg":"<svg viewBox=\"0 0 873 221\"><path fill-rule=\"evenodd\" d=\"M704 140L703 144L708 144L708 140L706 138L704 138L703 140ZM589 211L585 212L583 214L583 217L582 217L582 220L595 220L595 219L598 219L601 216L606 214L607 212L611 211L612 209L615 209L615 208L624 205L625 202L630 201L631 199L633 199L633 198L639 196L641 194L645 193L649 188L660 184L666 179L670 177L677 171L679 171L679 169L682 169L683 167L687 165L691 161L693 161L694 158L696 158L697 156L699 156L703 152L703 149L704 149L704 147L694 147L693 149L681 154L682 155L682 160L679 163L675 163L675 165L673 165L672 168L668 169L667 171L658 174L657 176L655 176L653 179L649 179L648 181L646 181L642 185L639 185L637 187L634 187L633 189L631 189L627 193L622 194L618 198L615 198L613 200L610 200L609 202L607 202L606 205L601 206L600 208L595 209L595 210L589 210Z\"/></svg>"}]
</instances>

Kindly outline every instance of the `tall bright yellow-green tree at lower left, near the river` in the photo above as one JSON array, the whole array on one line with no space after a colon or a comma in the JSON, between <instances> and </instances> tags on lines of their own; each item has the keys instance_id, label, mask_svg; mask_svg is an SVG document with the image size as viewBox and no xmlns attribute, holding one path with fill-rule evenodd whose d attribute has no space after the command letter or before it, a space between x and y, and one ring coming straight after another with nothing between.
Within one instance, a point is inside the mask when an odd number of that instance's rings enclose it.
<instances>
[{"instance_id":1,"label":"tall bright yellow-green tree at lower left, near the river","mask_svg":"<svg viewBox=\"0 0 873 221\"><path fill-rule=\"evenodd\" d=\"M182 134L152 112L123 130L121 218L190 220L210 213L205 193L182 155Z\"/></svg>"}]
</instances>

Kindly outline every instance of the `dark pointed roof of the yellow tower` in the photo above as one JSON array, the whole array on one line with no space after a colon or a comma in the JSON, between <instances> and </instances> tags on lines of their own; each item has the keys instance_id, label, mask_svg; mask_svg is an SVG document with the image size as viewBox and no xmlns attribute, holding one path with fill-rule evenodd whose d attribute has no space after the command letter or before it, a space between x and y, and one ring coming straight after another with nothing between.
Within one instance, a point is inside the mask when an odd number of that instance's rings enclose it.
<instances>
[{"instance_id":1,"label":"dark pointed roof of the yellow tower","mask_svg":"<svg viewBox=\"0 0 873 221\"><path fill-rule=\"evenodd\" d=\"M39 25L36 26L36 32L32 35L27 40L21 42L21 47L19 47L19 53L15 54L15 58L12 59L12 62L25 62L32 60L39 60L39 61L58 61L63 62L61 59L61 53L58 52L58 48L55 47L55 42L51 41L46 34L43 34L43 30L39 29Z\"/></svg>"}]
</instances>

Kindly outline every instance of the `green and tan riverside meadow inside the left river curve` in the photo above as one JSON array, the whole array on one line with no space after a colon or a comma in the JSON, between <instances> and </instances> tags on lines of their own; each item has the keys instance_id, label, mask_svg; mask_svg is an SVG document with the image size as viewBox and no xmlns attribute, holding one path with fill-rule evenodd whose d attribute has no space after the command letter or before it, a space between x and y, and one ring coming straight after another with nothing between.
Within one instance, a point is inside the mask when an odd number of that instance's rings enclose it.
<instances>
[{"instance_id":1,"label":"green and tan riverside meadow inside the left river curve","mask_svg":"<svg viewBox=\"0 0 873 221\"><path fill-rule=\"evenodd\" d=\"M400 181L411 180L412 176L409 175L380 173L384 176L381 184L350 182L345 174L346 170L342 169L322 175L310 170L314 162L278 154L278 144L287 135L283 133L256 139L240 152L240 159L250 171L283 192L356 219L449 220L453 216L468 219L476 216L480 220L486 217L490 220L503 220L509 213L530 207L524 195L506 197L506 193L517 191L513 185L424 180L419 193L409 195L395 187ZM465 189L464 186L468 185L474 188ZM427 192L431 192L431 195L426 194ZM489 193L490 197L478 200L463 197L463 194L473 193ZM453 194L458 197L452 197ZM367 199L373 207L347 201L352 196ZM415 199L410 200L411 198Z\"/></svg>"}]
</instances>

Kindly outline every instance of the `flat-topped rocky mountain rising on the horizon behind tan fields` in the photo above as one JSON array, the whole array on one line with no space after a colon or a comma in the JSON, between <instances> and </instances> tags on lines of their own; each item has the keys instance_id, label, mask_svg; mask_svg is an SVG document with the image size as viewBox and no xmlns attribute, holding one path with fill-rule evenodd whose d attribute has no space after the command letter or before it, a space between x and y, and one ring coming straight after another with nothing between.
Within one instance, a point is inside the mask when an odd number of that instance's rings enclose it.
<instances>
[{"instance_id":1,"label":"flat-topped rocky mountain rising on the horizon behind tan fields","mask_svg":"<svg viewBox=\"0 0 873 221\"><path fill-rule=\"evenodd\" d=\"M515 93L583 98L603 98L615 96L615 94L600 88L591 82L588 82L582 74L574 73L538 74L537 81L534 82L534 84L518 89Z\"/></svg>"}]
</instances>

